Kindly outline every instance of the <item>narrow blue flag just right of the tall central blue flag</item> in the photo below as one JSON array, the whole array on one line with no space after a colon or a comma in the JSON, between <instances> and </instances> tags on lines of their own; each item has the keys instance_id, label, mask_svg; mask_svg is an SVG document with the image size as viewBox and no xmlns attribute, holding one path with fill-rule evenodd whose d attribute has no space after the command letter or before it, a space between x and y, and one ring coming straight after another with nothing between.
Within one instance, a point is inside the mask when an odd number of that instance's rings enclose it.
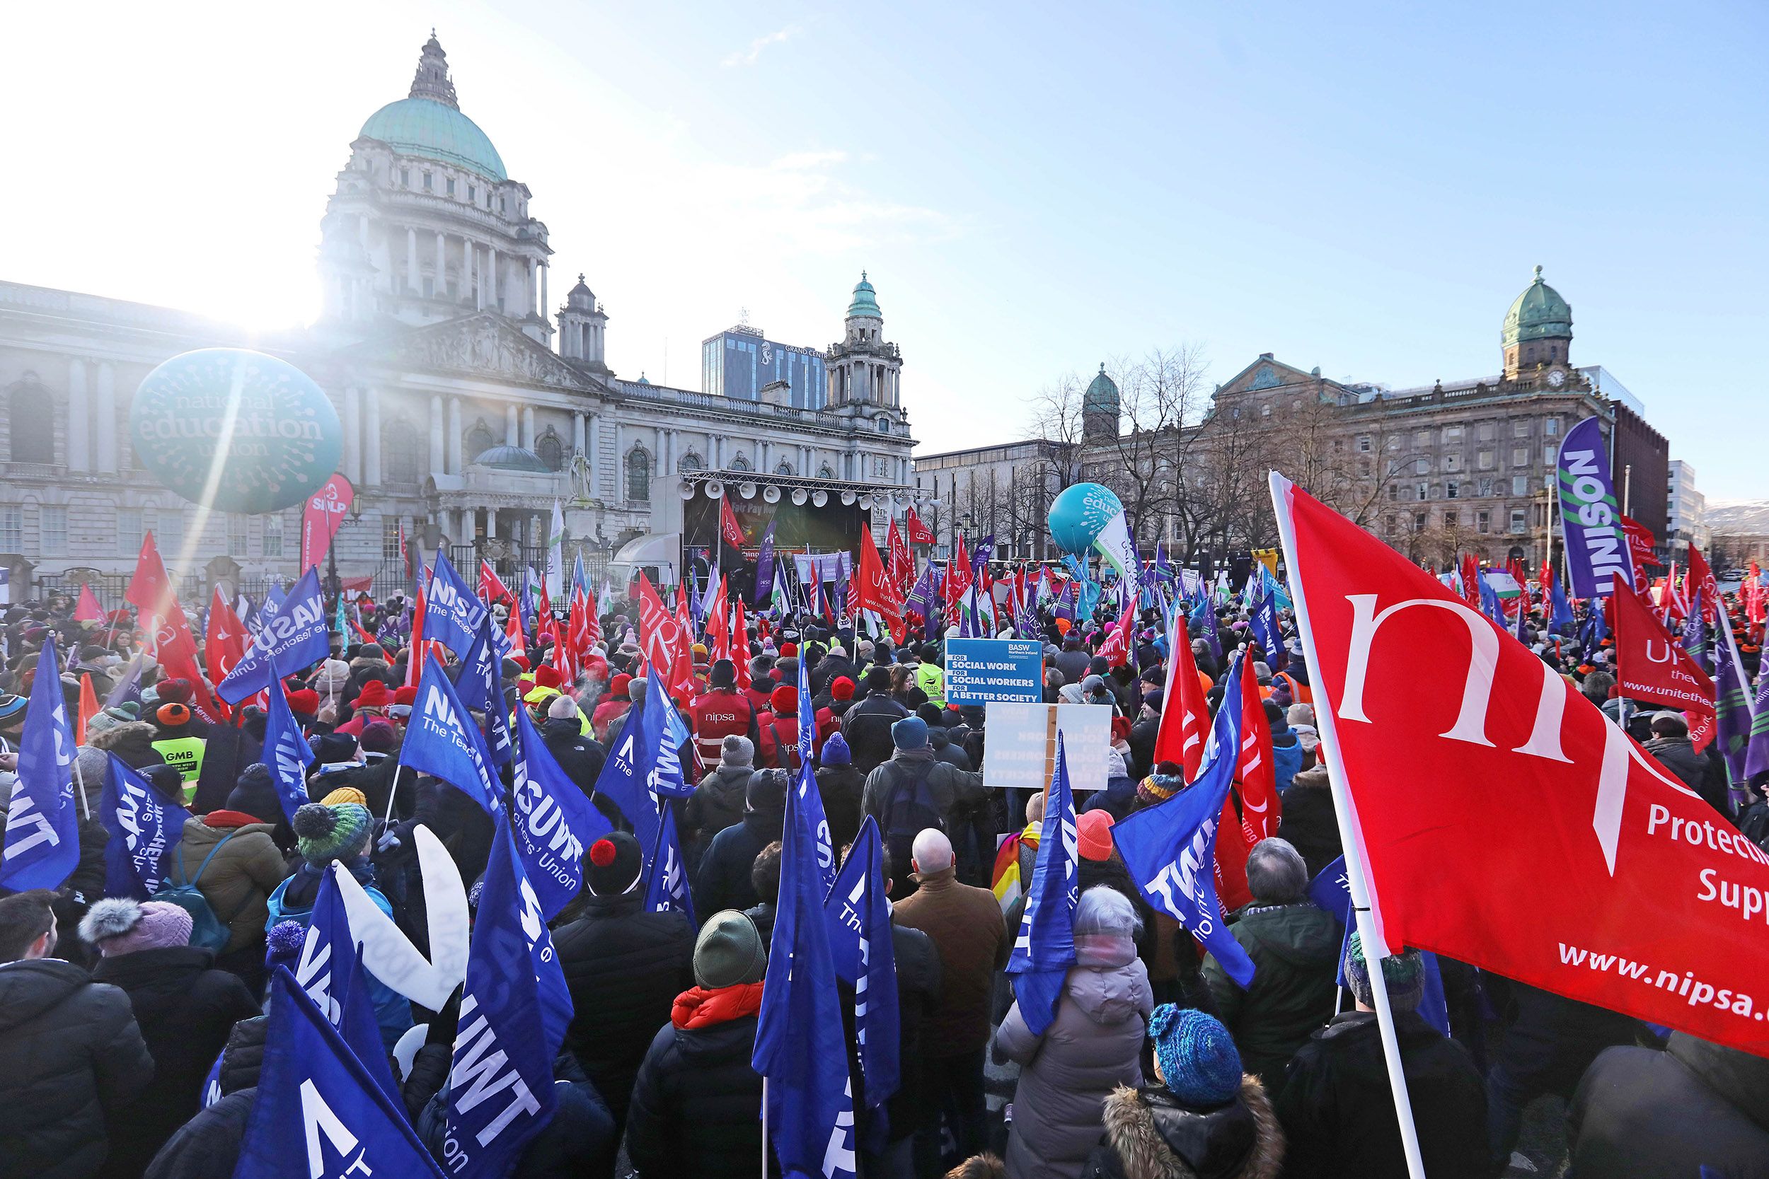
<instances>
[{"instance_id":1,"label":"narrow blue flag just right of the tall central blue flag","mask_svg":"<svg viewBox=\"0 0 1769 1179\"><path fill-rule=\"evenodd\" d=\"M867 815L835 887L823 901L835 977L854 988L854 1039L860 1043L867 1108L883 1105L900 1082L897 951L884 886L884 843L872 815Z\"/></svg>"}]
</instances>

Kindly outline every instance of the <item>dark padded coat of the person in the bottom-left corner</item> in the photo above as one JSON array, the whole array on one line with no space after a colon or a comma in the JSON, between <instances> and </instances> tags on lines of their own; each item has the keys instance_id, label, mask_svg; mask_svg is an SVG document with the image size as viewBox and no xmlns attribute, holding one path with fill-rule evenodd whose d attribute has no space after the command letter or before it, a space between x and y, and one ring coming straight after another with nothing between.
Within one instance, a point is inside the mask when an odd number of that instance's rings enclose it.
<instances>
[{"instance_id":1,"label":"dark padded coat of the person in the bottom-left corner","mask_svg":"<svg viewBox=\"0 0 1769 1179\"><path fill-rule=\"evenodd\" d=\"M83 1179L154 1080L129 997L58 958L0 965L0 1179Z\"/></svg>"}]
</instances>

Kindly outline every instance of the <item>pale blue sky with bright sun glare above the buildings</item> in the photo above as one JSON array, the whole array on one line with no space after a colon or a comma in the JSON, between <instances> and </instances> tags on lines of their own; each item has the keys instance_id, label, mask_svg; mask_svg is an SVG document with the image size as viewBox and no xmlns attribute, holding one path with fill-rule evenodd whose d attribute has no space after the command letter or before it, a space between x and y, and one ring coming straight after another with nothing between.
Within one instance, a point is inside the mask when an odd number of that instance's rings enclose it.
<instances>
[{"instance_id":1,"label":"pale blue sky with bright sun glare above the buildings","mask_svg":"<svg viewBox=\"0 0 1769 1179\"><path fill-rule=\"evenodd\" d=\"M435 25L623 375L699 387L745 308L824 345L865 267L950 449L1152 346L1489 375L1541 263L1574 362L1709 497L1769 495L1760 4L55 7L0 46L46 180L0 191L0 278L310 316L325 194Z\"/></svg>"}]
</instances>

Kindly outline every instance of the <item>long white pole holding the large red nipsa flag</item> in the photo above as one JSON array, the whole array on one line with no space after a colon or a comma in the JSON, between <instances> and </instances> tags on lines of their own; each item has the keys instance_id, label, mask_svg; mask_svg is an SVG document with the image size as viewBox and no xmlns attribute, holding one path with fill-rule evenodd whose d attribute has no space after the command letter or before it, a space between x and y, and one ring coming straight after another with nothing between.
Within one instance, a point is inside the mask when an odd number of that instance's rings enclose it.
<instances>
[{"instance_id":1,"label":"long white pole holding the large red nipsa flag","mask_svg":"<svg viewBox=\"0 0 1769 1179\"><path fill-rule=\"evenodd\" d=\"M1309 666L1323 666L1309 626L1309 603L1302 582L1302 564L1297 560L1297 525L1290 518L1288 491L1291 483L1275 470L1270 474L1272 513L1277 516L1277 534L1284 544L1284 564L1290 569L1291 603L1297 612L1297 638L1307 654ZM1406 1073L1401 1069L1401 1045L1394 1036L1394 1011L1389 1006L1389 983L1382 974L1382 960L1389 944L1373 903L1369 870L1364 864L1364 833L1357 822L1357 804L1346 788L1344 758L1339 755L1339 734L1334 726L1332 700L1325 684L1316 693L1316 721L1320 723L1321 751L1327 755L1327 785L1334 795L1334 815L1339 824L1339 841L1344 845L1346 884L1352 891L1352 912L1362 935L1364 962L1369 963L1371 999L1376 1004L1376 1031L1382 1036L1382 1057L1389 1066L1389 1087L1394 1091L1394 1112L1401 1126L1401 1152L1406 1156L1406 1174L1426 1179L1424 1158L1419 1152L1419 1128L1413 1126L1413 1103L1406 1094Z\"/></svg>"}]
</instances>

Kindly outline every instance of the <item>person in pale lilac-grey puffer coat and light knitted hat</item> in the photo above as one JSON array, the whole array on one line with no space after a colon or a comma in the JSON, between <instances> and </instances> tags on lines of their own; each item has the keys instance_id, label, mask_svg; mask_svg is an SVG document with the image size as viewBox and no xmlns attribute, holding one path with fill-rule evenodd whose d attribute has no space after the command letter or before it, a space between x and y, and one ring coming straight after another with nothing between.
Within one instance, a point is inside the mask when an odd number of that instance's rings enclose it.
<instances>
[{"instance_id":1,"label":"person in pale lilac-grey puffer coat and light knitted hat","mask_svg":"<svg viewBox=\"0 0 1769 1179\"><path fill-rule=\"evenodd\" d=\"M1141 1082L1155 999L1136 955L1137 928L1136 907L1116 889L1084 889L1074 916L1076 963L1056 1018L1033 1032L1015 1002L1001 1020L994 1061L1021 1066L1007 1140L1010 1175L1079 1175L1100 1140L1106 1096Z\"/></svg>"}]
</instances>

